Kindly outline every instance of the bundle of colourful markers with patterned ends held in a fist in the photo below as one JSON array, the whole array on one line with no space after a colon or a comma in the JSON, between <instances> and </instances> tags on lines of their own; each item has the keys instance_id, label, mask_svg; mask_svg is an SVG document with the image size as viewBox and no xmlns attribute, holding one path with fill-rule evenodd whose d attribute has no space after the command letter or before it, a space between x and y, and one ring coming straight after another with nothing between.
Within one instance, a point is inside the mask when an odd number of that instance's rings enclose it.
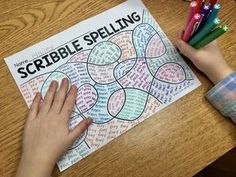
<instances>
[{"instance_id":1,"label":"bundle of colourful markers with patterned ends held in a fist","mask_svg":"<svg viewBox=\"0 0 236 177\"><path fill-rule=\"evenodd\" d=\"M189 15L182 40L196 49L200 49L229 30L220 25L217 17L221 6L217 0L194 0L190 3Z\"/></svg>"}]
</instances>

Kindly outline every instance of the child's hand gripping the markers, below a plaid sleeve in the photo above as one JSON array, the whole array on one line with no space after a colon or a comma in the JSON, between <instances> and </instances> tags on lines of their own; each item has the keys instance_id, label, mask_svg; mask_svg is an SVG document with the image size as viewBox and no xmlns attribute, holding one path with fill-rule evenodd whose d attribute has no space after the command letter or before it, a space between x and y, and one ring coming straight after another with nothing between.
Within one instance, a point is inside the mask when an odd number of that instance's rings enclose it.
<instances>
[{"instance_id":1,"label":"child's hand gripping the markers, below a plaid sleeve","mask_svg":"<svg viewBox=\"0 0 236 177\"><path fill-rule=\"evenodd\" d=\"M191 47L180 39L176 42L176 46L214 84L217 84L233 72L225 62L216 41L200 50Z\"/></svg>"}]
</instances>

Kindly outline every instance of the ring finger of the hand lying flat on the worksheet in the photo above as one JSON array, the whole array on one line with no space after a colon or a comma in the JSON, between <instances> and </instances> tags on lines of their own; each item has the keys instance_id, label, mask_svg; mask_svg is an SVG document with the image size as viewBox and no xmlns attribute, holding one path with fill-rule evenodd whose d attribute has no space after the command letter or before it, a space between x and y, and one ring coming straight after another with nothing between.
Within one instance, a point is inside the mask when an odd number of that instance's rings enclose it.
<instances>
[{"instance_id":1,"label":"ring finger of the hand lying flat on the worksheet","mask_svg":"<svg viewBox=\"0 0 236 177\"><path fill-rule=\"evenodd\" d=\"M55 93L57 91L57 86L58 83L56 81L52 81L49 89L44 97L43 103L42 103L42 111L43 112L48 112L49 109L51 108L53 98L55 96Z\"/></svg>"}]
</instances>

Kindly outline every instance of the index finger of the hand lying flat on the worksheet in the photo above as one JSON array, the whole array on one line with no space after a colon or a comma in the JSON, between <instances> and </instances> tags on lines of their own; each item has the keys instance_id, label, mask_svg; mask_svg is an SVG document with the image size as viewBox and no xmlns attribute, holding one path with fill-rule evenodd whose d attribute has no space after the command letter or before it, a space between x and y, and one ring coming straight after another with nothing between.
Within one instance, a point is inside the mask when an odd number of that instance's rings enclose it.
<instances>
[{"instance_id":1,"label":"index finger of the hand lying flat on the worksheet","mask_svg":"<svg viewBox=\"0 0 236 177\"><path fill-rule=\"evenodd\" d=\"M69 118L72 111L73 111L76 97L77 97L77 87L75 85L72 85L71 88L70 88L70 91L68 93L68 96L66 98L66 101L65 101L65 103L62 107L62 110L61 110L61 113L66 118Z\"/></svg>"}]
</instances>

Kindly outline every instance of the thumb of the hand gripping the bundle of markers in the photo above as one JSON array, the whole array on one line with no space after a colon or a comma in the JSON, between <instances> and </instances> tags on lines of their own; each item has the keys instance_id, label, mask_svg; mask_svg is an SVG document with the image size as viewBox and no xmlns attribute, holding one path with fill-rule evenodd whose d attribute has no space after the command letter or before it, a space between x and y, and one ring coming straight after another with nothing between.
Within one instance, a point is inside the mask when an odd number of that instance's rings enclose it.
<instances>
[{"instance_id":1,"label":"thumb of the hand gripping the bundle of markers","mask_svg":"<svg viewBox=\"0 0 236 177\"><path fill-rule=\"evenodd\" d=\"M183 40L178 40L176 42L176 46L180 50L180 52L186 57L188 57L190 60L196 58L197 50L192 46L188 45Z\"/></svg>"}]
</instances>

